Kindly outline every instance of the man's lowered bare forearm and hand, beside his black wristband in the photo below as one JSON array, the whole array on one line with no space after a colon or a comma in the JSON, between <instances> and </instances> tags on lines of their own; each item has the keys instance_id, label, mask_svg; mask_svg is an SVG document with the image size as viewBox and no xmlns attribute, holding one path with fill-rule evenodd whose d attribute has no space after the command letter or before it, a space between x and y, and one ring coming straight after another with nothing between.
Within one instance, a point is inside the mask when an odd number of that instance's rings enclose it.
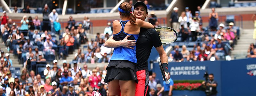
<instances>
[{"instance_id":1,"label":"man's lowered bare forearm and hand, beside his black wristband","mask_svg":"<svg viewBox=\"0 0 256 96\"><path fill-rule=\"evenodd\" d=\"M167 56L167 54L164 51L163 45L161 45L159 47L156 47L156 51L159 53L159 57L160 57L160 60L161 60L162 64L163 63L167 63L168 64L168 56ZM168 72L165 72L165 77L166 77L166 80L170 79L170 76L168 75Z\"/></svg>"}]
</instances>

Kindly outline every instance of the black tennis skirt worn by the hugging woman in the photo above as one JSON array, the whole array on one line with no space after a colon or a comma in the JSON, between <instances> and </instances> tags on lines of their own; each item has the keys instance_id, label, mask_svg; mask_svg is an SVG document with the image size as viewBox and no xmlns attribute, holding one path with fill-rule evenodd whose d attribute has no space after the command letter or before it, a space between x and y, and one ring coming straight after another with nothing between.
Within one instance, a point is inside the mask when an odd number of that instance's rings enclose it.
<instances>
[{"instance_id":1,"label":"black tennis skirt worn by the hugging woman","mask_svg":"<svg viewBox=\"0 0 256 96\"><path fill-rule=\"evenodd\" d=\"M104 79L105 83L108 83L112 80L134 80L138 83L137 79L137 68L135 67L136 63L133 63L128 60L110 60L107 70L107 75Z\"/></svg>"}]
</instances>

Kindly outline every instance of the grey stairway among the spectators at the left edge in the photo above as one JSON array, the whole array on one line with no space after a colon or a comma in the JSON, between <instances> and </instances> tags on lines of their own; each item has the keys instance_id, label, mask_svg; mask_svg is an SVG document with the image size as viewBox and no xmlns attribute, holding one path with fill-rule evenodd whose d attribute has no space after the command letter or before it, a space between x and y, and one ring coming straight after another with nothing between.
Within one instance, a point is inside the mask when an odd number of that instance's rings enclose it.
<instances>
[{"instance_id":1,"label":"grey stairway among the spectators at the left edge","mask_svg":"<svg viewBox=\"0 0 256 96\"><path fill-rule=\"evenodd\" d=\"M6 49L6 46L4 45L4 44L0 44L0 48L1 48L1 50L3 50L4 51L4 55L6 54L6 53L9 53L8 51L7 51L7 49ZM16 49L15 49L16 50ZM13 55L13 53L9 53L10 54L10 59L12 60L12 66L13 67L20 67L20 68L22 68L23 67L23 64L19 64L19 62L18 62L18 57L17 56L14 56Z\"/></svg>"}]
</instances>

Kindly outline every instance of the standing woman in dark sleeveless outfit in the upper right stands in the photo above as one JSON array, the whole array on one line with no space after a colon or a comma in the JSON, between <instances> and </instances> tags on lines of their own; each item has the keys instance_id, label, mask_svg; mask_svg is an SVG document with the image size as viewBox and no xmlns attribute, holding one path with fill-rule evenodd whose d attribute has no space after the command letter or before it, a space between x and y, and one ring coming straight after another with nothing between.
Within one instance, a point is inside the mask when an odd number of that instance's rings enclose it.
<instances>
[{"instance_id":1,"label":"standing woman in dark sleeveless outfit in the upper right stands","mask_svg":"<svg viewBox=\"0 0 256 96\"><path fill-rule=\"evenodd\" d=\"M217 19L219 18L218 13L215 12L215 8L212 8L212 13L209 14L209 26L212 31L216 31L216 28L218 26Z\"/></svg>"}]
</instances>

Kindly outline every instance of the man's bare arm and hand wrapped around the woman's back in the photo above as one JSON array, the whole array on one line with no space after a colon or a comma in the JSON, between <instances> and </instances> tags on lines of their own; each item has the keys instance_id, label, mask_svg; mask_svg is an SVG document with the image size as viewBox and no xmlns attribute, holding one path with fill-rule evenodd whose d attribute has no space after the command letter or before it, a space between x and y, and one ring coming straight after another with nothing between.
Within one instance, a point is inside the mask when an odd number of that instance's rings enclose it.
<instances>
[{"instance_id":1,"label":"man's bare arm and hand wrapped around the woman's back","mask_svg":"<svg viewBox=\"0 0 256 96\"><path fill-rule=\"evenodd\" d=\"M135 46L136 40L128 40L128 37L130 36L126 36L123 40L115 41L113 36L110 36L109 39L105 42L104 46L108 48L116 48L122 46L125 48L134 49L130 46Z\"/></svg>"}]
</instances>

